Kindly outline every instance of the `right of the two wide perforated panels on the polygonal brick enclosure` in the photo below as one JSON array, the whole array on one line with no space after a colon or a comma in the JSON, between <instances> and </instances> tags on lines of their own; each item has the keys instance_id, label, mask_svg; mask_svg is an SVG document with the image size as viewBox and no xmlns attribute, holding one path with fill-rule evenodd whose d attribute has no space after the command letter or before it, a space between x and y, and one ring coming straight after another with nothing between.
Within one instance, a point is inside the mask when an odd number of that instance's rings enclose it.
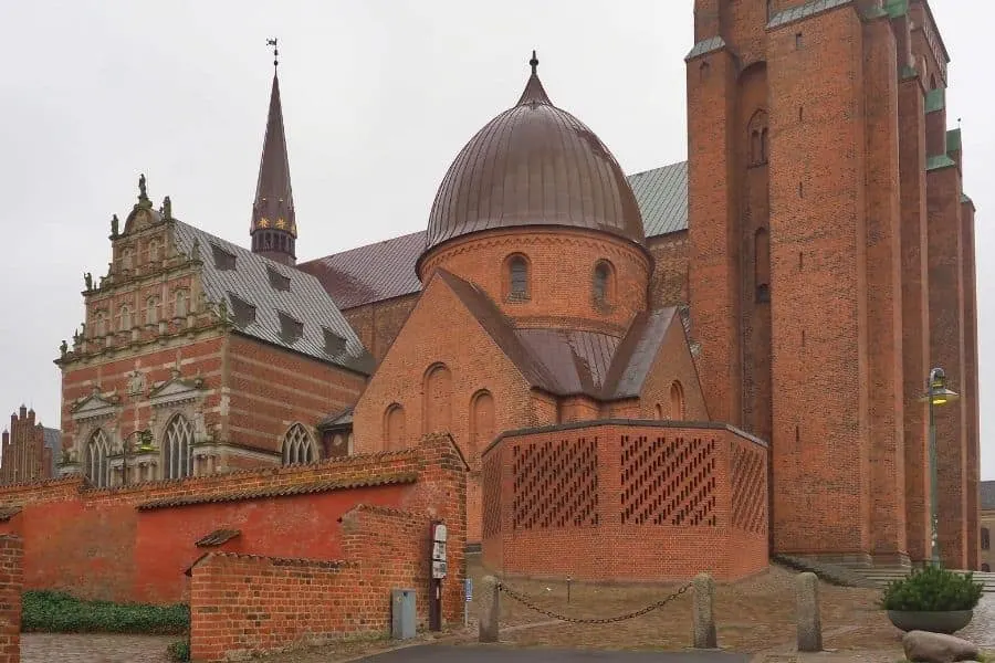
<instances>
[{"instance_id":1,"label":"right of the two wide perforated panels on the polygonal brick enclosure","mask_svg":"<svg viewBox=\"0 0 995 663\"><path fill-rule=\"evenodd\" d=\"M715 526L715 442L622 435L622 525Z\"/></svg>"}]
</instances>

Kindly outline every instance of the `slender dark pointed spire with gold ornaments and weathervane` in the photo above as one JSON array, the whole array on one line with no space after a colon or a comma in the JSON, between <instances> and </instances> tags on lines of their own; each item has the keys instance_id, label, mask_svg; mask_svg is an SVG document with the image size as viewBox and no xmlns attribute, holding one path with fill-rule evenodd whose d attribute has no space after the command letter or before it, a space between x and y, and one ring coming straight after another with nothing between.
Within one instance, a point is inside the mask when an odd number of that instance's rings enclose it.
<instances>
[{"instance_id":1,"label":"slender dark pointed spire with gold ornaments and weathervane","mask_svg":"<svg viewBox=\"0 0 995 663\"><path fill-rule=\"evenodd\" d=\"M296 262L297 222L283 130L283 108L280 104L276 40L266 40L266 45L273 46L273 88L270 92L270 114L266 117L266 135L263 139L249 232L252 235L253 253L293 265Z\"/></svg>"}]
</instances>

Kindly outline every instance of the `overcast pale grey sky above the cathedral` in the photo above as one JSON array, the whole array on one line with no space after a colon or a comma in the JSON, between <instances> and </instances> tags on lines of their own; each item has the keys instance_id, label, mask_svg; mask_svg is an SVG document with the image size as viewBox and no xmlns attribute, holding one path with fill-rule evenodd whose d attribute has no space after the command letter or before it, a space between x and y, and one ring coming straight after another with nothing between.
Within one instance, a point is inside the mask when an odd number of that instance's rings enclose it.
<instances>
[{"instance_id":1,"label":"overcast pale grey sky above the cathedral","mask_svg":"<svg viewBox=\"0 0 995 663\"><path fill-rule=\"evenodd\" d=\"M692 0L0 0L0 412L59 425L59 344L83 319L83 272L106 273L109 219L139 172L158 204L248 244L272 57L308 260L425 228L450 161L513 104L538 50L554 103L627 172L687 156L683 56ZM933 0L963 118L977 255L995 231L991 3ZM818 75L813 72L813 75ZM982 476L995 478L995 335L978 260Z\"/></svg>"}]
</instances>

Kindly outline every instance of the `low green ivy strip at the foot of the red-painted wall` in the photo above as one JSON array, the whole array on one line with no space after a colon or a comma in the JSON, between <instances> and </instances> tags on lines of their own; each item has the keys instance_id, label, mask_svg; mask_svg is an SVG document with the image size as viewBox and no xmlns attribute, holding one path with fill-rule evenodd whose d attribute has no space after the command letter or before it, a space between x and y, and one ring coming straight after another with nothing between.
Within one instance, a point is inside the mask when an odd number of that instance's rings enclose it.
<instances>
[{"instance_id":1,"label":"low green ivy strip at the foot of the red-painted wall","mask_svg":"<svg viewBox=\"0 0 995 663\"><path fill-rule=\"evenodd\" d=\"M81 601L57 591L23 594L21 630L46 633L179 634L190 629L190 609L176 606Z\"/></svg>"}]
</instances>

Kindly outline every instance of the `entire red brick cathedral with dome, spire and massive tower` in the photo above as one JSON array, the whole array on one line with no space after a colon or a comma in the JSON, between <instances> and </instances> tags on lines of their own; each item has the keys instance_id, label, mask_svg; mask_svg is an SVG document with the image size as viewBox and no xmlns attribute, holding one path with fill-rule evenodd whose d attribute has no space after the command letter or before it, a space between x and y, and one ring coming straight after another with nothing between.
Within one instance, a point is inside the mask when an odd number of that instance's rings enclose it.
<instances>
[{"instance_id":1,"label":"entire red brick cathedral with dome, spire and massive tower","mask_svg":"<svg viewBox=\"0 0 995 663\"><path fill-rule=\"evenodd\" d=\"M112 220L56 360L61 472L116 487L444 432L468 540L507 571L905 565L930 556L940 366L962 397L938 409L940 546L976 568L947 62L925 0L696 0L687 162L624 175L533 55L425 232L303 264L274 75L251 250L155 206L145 176ZM608 540L636 571L598 562Z\"/></svg>"}]
</instances>

